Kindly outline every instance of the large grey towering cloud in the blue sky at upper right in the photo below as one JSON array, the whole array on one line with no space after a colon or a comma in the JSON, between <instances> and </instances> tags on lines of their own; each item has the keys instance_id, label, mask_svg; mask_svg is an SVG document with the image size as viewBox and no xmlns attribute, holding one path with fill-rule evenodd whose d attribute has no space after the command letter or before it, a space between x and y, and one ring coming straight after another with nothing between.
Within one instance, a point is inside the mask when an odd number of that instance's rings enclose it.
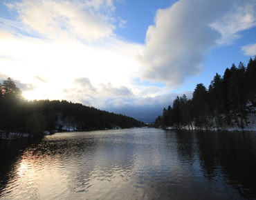
<instances>
[{"instance_id":1,"label":"large grey towering cloud in the blue sky at upper right","mask_svg":"<svg viewBox=\"0 0 256 200\"><path fill-rule=\"evenodd\" d=\"M145 66L143 79L181 86L203 70L212 48L256 25L255 5L250 0L181 0L159 9L138 57Z\"/></svg>"}]
</instances>

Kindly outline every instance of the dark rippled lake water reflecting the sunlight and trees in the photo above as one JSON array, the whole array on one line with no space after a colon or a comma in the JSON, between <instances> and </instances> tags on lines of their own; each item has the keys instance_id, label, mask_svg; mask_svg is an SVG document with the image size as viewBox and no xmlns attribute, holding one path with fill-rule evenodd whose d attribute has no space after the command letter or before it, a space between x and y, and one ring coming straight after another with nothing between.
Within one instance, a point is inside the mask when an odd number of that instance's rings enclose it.
<instances>
[{"instance_id":1,"label":"dark rippled lake water reflecting the sunlight and trees","mask_svg":"<svg viewBox=\"0 0 256 200\"><path fill-rule=\"evenodd\" d=\"M0 199L256 199L256 132L141 128L1 141Z\"/></svg>"}]
</instances>

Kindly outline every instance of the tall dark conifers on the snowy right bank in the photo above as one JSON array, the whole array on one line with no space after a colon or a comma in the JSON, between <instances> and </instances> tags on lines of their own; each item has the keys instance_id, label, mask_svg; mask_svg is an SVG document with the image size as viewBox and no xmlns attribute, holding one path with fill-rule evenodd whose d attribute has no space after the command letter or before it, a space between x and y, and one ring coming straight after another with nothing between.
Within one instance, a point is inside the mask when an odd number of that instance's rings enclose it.
<instances>
[{"instance_id":1,"label":"tall dark conifers on the snowy right bank","mask_svg":"<svg viewBox=\"0 0 256 200\"><path fill-rule=\"evenodd\" d=\"M203 83L196 85L192 99L185 94L176 97L173 106L163 108L163 116L158 116L155 127L196 129L234 126L241 130L248 126L248 114L255 115L256 107L256 56L244 63L232 64L221 77L214 76L208 89ZM195 128L194 127L194 128Z\"/></svg>"}]
</instances>

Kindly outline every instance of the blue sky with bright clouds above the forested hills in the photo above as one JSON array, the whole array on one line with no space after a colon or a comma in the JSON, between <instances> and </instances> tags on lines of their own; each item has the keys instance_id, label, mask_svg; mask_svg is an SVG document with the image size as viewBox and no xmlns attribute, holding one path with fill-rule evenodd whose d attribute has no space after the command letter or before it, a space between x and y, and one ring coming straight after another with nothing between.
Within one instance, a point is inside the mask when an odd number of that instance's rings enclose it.
<instances>
[{"instance_id":1,"label":"blue sky with bright clouds above the forested hills","mask_svg":"<svg viewBox=\"0 0 256 200\"><path fill-rule=\"evenodd\" d=\"M0 0L0 83L156 119L256 54L256 0Z\"/></svg>"}]
</instances>

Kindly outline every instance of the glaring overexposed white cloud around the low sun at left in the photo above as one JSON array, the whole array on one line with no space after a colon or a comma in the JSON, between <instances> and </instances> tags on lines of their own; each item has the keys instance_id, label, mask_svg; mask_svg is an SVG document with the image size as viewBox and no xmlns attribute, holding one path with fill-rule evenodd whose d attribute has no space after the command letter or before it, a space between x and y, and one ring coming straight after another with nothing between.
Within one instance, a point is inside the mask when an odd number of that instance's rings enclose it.
<instances>
[{"instance_id":1,"label":"glaring overexposed white cloud around the low sun at left","mask_svg":"<svg viewBox=\"0 0 256 200\"><path fill-rule=\"evenodd\" d=\"M7 41L0 39L0 65L5 66L1 69L3 73L35 84L37 90L26 95L28 99L45 99L44 95L51 99L55 93L63 98L62 89L75 88L74 79L80 77L89 77L94 88L100 88L100 83L106 85L109 81L113 88L131 88L131 80L139 75L140 67L135 57L140 49L141 46L118 40L105 41L99 47L71 39L50 43L48 40L15 37ZM47 86L42 81L35 81L38 75L47 81ZM121 94L125 88L113 90ZM106 94L111 93L106 91Z\"/></svg>"}]
</instances>

